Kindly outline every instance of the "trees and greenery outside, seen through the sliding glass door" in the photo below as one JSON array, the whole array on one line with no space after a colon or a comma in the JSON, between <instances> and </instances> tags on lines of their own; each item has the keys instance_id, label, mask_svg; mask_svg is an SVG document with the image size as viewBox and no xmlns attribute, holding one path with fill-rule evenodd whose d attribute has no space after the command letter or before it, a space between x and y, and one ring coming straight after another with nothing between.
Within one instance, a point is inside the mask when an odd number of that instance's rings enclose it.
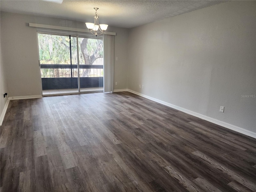
<instances>
[{"instance_id":1,"label":"trees and greenery outside, seen through the sliding glass door","mask_svg":"<svg viewBox=\"0 0 256 192\"><path fill-rule=\"evenodd\" d=\"M40 64L70 64L70 42L72 64L78 64L76 37L38 34L38 48ZM97 64L98 58L103 58L102 40L78 38L79 64ZM102 60L99 64L102 64ZM92 72L91 72L92 71ZM73 76L77 77L77 70L73 69ZM80 70L80 77L95 76L93 70ZM41 69L42 78L71 77L71 69ZM103 76L103 70L97 71L96 76Z\"/></svg>"}]
</instances>

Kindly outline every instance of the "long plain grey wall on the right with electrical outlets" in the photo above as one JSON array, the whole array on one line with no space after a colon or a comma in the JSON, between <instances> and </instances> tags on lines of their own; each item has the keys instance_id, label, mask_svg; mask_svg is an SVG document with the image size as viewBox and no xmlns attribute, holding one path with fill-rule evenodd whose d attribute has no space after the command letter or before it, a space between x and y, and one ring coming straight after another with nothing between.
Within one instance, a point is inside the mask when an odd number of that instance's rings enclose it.
<instances>
[{"instance_id":1,"label":"long plain grey wall on the right with electrical outlets","mask_svg":"<svg viewBox=\"0 0 256 192\"><path fill-rule=\"evenodd\" d=\"M255 10L232 1L131 29L128 89L256 132L256 98L241 98L256 94Z\"/></svg>"}]
</instances>

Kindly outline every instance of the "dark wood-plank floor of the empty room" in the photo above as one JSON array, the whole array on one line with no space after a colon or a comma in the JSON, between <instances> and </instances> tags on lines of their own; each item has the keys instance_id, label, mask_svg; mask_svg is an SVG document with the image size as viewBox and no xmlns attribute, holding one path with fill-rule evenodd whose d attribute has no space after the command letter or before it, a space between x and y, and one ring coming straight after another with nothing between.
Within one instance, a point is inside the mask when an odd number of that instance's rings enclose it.
<instances>
[{"instance_id":1,"label":"dark wood-plank floor of the empty room","mask_svg":"<svg viewBox=\"0 0 256 192\"><path fill-rule=\"evenodd\" d=\"M11 100L1 192L255 192L256 139L129 92Z\"/></svg>"}]
</instances>

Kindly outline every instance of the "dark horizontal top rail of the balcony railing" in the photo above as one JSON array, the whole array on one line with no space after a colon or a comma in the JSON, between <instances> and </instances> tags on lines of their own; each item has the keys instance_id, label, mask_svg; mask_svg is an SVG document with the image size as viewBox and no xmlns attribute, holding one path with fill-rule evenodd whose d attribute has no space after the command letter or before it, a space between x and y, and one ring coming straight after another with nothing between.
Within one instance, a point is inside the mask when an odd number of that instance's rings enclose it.
<instances>
[{"instance_id":1,"label":"dark horizontal top rail of the balcony railing","mask_svg":"<svg viewBox=\"0 0 256 192\"><path fill-rule=\"evenodd\" d=\"M40 64L41 69L70 69L69 64ZM79 65L80 69L103 69L103 65ZM77 69L77 65L72 64L72 69Z\"/></svg>"}]
</instances>

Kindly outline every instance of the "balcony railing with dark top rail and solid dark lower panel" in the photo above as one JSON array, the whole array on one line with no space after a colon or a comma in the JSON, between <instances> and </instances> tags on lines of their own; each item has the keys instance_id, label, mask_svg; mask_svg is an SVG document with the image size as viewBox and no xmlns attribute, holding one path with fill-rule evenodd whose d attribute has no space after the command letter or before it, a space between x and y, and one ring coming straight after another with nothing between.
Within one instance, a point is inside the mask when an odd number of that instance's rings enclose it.
<instances>
[{"instance_id":1,"label":"balcony railing with dark top rail and solid dark lower panel","mask_svg":"<svg viewBox=\"0 0 256 192\"><path fill-rule=\"evenodd\" d=\"M77 65L41 64L43 90L78 88ZM103 65L79 65L80 88L103 87Z\"/></svg>"}]
</instances>

